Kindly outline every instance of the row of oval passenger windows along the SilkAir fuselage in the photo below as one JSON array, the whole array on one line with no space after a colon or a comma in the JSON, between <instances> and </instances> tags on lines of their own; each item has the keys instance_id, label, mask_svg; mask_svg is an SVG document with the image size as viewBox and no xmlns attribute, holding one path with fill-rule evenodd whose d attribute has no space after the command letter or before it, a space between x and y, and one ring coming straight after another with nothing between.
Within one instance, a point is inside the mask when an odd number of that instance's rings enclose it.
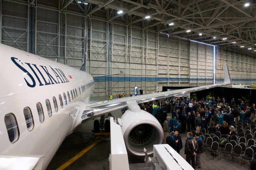
<instances>
[{"instance_id":1,"label":"row of oval passenger windows along the SilkAir fuselage","mask_svg":"<svg viewBox=\"0 0 256 170\"><path fill-rule=\"evenodd\" d=\"M86 89L90 88L93 83L94 82L88 83L86 85L82 85L81 86L82 93L84 93L86 91ZM81 95L80 87L78 87L78 89L79 89L79 94ZM74 98L76 99L76 97L78 97L76 88L70 90L70 94L71 94L72 100L74 100ZM71 102L70 94L67 91L67 95L68 95L68 101L67 101L66 94L63 93L65 105L67 105L68 102L69 103ZM57 104L56 98L52 97L52 100L53 100L55 112L58 112L58 104ZM63 108L62 96L60 94L59 94L59 100L60 100L60 107ZM45 100L45 104L46 104L48 116L51 117L52 116L52 107L51 107L49 99ZM42 104L40 102L36 103L36 109L38 112L39 121L40 121L40 123L43 123L44 122L44 110L43 110ZM23 109L23 113L24 113L27 129L30 132L34 128L34 119L33 119L32 111L31 111L30 107L25 107ZM8 132L10 142L11 143L16 142L20 136L20 131L19 131L19 127L18 127L18 123L17 123L15 115L13 113L8 113L4 117L4 122L6 125L6 129Z\"/></svg>"}]
</instances>

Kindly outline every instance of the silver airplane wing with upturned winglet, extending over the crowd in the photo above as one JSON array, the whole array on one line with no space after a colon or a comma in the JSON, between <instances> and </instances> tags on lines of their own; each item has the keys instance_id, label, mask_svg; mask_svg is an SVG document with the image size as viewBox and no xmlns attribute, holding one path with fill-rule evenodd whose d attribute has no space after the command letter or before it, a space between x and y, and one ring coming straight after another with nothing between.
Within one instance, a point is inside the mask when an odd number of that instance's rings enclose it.
<instances>
[{"instance_id":1,"label":"silver airplane wing with upturned winglet, extending over the crowd","mask_svg":"<svg viewBox=\"0 0 256 170\"><path fill-rule=\"evenodd\" d=\"M191 93L194 91L201 91L204 89L211 89L214 87L232 84L227 64L224 64L224 71L225 71L224 82L219 84L192 87L188 89L180 89L180 90L166 91L166 92L160 92L160 93L151 93L151 94L145 94L145 95L138 95L134 97L124 97L120 99L112 99L112 100L101 101L97 103L90 103L86 105L86 108L82 113L82 117L81 117L82 123L90 119L94 119L95 117L98 117L100 115L109 113L111 111L122 109L124 107L128 107L129 110L133 111L134 109L136 109L134 108L136 104L146 103L148 101L154 101L154 100L163 99L166 97L172 97L175 95L182 95L182 94Z\"/></svg>"}]
</instances>

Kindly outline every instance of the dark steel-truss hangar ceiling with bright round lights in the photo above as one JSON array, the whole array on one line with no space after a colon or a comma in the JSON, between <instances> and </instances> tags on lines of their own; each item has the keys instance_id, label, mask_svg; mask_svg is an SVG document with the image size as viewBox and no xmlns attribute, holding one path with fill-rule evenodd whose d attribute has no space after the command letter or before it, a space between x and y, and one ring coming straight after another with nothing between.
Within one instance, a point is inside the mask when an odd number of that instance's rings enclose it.
<instances>
[{"instance_id":1,"label":"dark steel-truss hangar ceiling with bright round lights","mask_svg":"<svg viewBox=\"0 0 256 170\"><path fill-rule=\"evenodd\" d=\"M84 12L88 17L99 10L109 10L107 19L110 22L123 20L128 26L143 22L144 28L158 30L160 33L220 45L229 51L256 57L256 0L82 2L88 2L88 5L84 7L84 4L79 4L79 0L68 0L62 6L72 8L71 6L78 5L80 12ZM249 6L245 6L246 3L249 3ZM122 14L117 13L119 10L123 11ZM128 16L128 20L124 15ZM146 16L150 18L146 19ZM169 25L172 23L173 25Z\"/></svg>"}]
</instances>

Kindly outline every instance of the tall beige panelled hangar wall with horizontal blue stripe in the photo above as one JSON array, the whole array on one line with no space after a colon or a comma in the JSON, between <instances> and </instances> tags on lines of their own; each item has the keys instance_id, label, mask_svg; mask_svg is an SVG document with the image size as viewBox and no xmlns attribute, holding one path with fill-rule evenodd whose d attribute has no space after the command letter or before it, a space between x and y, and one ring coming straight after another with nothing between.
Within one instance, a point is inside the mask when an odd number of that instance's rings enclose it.
<instances>
[{"instance_id":1,"label":"tall beige panelled hangar wall with horizontal blue stripe","mask_svg":"<svg viewBox=\"0 0 256 170\"><path fill-rule=\"evenodd\" d=\"M87 34L87 71L96 78L94 96L161 91L162 86L201 86L223 81L228 63L236 84L256 82L256 60L221 47L160 34L146 21L128 24L128 14L110 20L111 9L87 14L87 6L63 0L0 0L0 42L80 68ZM50 4L50 5L49 5ZM89 8L89 7L88 7ZM85 11L85 12L83 12ZM214 62L216 70L214 72ZM158 89L159 87L159 89Z\"/></svg>"}]
</instances>

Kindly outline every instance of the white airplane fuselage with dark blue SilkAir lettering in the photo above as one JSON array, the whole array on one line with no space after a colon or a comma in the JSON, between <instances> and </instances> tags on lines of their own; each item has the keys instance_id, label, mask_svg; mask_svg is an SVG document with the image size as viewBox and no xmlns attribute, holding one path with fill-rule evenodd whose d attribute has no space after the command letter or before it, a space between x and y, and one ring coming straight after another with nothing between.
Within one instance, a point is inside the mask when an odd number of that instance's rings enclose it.
<instances>
[{"instance_id":1,"label":"white airplane fuselage with dark blue SilkAir lettering","mask_svg":"<svg viewBox=\"0 0 256 170\"><path fill-rule=\"evenodd\" d=\"M81 123L81 113L76 108L89 103L94 89L93 78L84 71L3 44L0 44L0 51L0 155L42 155L42 169L45 169L64 138ZM58 111L55 111L53 97ZM46 99L50 101L51 116ZM42 123L37 103L41 103L44 112ZM24 117L25 107L30 108L33 116L34 127L30 131ZM15 115L18 124L18 139L14 142L9 139L5 122L9 113Z\"/></svg>"}]
</instances>

